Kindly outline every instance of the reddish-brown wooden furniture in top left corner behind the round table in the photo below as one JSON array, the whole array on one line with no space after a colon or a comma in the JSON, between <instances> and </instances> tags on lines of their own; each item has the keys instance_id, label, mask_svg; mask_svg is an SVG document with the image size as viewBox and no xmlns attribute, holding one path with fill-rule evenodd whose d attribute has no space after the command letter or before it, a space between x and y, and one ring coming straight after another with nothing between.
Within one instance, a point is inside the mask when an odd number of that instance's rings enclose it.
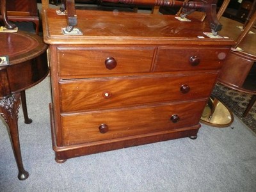
<instances>
[{"instance_id":1,"label":"reddish-brown wooden furniture in top left corner behind the round table","mask_svg":"<svg viewBox=\"0 0 256 192\"><path fill-rule=\"evenodd\" d=\"M17 22L33 22L36 35L39 33L40 20L36 0L8 0L6 1L8 19ZM0 15L0 19L3 19Z\"/></svg>"}]
</instances>

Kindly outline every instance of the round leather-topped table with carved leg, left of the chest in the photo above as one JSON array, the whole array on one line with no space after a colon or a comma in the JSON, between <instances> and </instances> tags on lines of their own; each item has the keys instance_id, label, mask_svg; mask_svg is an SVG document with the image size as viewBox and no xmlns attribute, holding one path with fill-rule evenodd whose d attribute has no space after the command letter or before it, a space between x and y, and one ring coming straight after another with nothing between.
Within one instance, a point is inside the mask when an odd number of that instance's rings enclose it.
<instances>
[{"instance_id":1,"label":"round leather-topped table with carved leg, left of the chest","mask_svg":"<svg viewBox=\"0 0 256 192\"><path fill-rule=\"evenodd\" d=\"M0 65L0 114L10 130L13 152L19 169L18 178L28 178L24 170L19 143L18 112L20 95L25 123L30 124L26 108L26 89L40 83L48 74L46 50L42 38L26 32L0 33L0 54L9 56L7 65Z\"/></svg>"}]
</instances>

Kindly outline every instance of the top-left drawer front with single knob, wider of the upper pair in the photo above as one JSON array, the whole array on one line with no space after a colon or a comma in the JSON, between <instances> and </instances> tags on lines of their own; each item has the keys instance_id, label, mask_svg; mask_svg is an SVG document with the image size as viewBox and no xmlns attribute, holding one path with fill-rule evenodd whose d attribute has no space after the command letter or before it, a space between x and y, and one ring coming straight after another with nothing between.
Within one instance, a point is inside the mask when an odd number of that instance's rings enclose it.
<instances>
[{"instance_id":1,"label":"top-left drawer front with single knob, wider of the upper pair","mask_svg":"<svg viewBox=\"0 0 256 192\"><path fill-rule=\"evenodd\" d=\"M59 48L60 76L150 72L154 48ZM71 77L70 77L71 78Z\"/></svg>"}]
</instances>

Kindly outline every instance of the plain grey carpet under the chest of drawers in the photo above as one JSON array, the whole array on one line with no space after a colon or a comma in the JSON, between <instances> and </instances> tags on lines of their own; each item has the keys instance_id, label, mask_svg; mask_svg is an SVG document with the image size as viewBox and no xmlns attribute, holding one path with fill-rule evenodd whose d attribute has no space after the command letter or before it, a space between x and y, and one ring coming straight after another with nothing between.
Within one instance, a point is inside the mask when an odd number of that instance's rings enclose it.
<instances>
[{"instance_id":1,"label":"plain grey carpet under the chest of drawers","mask_svg":"<svg viewBox=\"0 0 256 192\"><path fill-rule=\"evenodd\" d=\"M182 138L54 161L49 77L26 91L33 123L19 113L29 178L17 179L6 125L0 122L0 191L256 191L256 137L235 118L227 128L202 125ZM3 120L2 120L3 121Z\"/></svg>"}]
</instances>

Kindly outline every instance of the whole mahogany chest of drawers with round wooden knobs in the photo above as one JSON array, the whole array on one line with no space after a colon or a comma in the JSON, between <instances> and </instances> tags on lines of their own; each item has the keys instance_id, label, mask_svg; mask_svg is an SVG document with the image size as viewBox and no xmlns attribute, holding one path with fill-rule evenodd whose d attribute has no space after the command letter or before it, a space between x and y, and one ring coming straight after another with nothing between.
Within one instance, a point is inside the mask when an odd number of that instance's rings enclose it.
<instances>
[{"instance_id":1,"label":"whole mahogany chest of drawers with round wooden knobs","mask_svg":"<svg viewBox=\"0 0 256 192\"><path fill-rule=\"evenodd\" d=\"M196 137L232 40L205 36L197 20L83 10L83 35L63 35L65 15L43 15L57 162Z\"/></svg>"}]
</instances>

